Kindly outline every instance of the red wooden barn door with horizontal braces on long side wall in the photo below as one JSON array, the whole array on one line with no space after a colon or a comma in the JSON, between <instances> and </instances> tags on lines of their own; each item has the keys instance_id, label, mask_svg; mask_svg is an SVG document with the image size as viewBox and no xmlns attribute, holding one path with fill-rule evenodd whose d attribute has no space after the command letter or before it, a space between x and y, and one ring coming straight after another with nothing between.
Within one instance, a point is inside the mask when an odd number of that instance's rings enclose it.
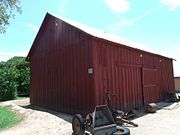
<instances>
[{"instance_id":1,"label":"red wooden barn door with horizontal braces on long side wall","mask_svg":"<svg viewBox=\"0 0 180 135\"><path fill-rule=\"evenodd\" d=\"M142 81L143 81L143 100L144 105L158 101L158 79L157 69L143 68Z\"/></svg>"}]
</instances>

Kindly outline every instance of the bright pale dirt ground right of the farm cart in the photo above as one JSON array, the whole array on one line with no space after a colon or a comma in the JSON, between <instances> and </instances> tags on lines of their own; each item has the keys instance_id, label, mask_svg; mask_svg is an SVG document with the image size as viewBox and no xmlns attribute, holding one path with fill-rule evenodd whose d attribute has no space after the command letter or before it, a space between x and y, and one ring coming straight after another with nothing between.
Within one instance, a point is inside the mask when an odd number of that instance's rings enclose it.
<instances>
[{"instance_id":1,"label":"bright pale dirt ground right of the farm cart","mask_svg":"<svg viewBox=\"0 0 180 135\"><path fill-rule=\"evenodd\" d=\"M159 103L154 114L145 114L134 120L138 128L130 127L131 135L180 135L180 102Z\"/></svg>"}]
</instances>

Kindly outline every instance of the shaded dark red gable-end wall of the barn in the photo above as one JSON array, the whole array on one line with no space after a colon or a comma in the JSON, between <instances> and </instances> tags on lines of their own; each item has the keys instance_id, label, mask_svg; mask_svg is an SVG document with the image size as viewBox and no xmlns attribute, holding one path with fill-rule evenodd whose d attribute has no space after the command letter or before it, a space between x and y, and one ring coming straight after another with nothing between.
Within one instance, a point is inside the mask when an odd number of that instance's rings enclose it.
<instances>
[{"instance_id":1,"label":"shaded dark red gable-end wall of the barn","mask_svg":"<svg viewBox=\"0 0 180 135\"><path fill-rule=\"evenodd\" d=\"M31 103L67 113L90 111L94 109L93 80L87 73L92 67L90 37L48 17L30 58Z\"/></svg>"}]
</instances>

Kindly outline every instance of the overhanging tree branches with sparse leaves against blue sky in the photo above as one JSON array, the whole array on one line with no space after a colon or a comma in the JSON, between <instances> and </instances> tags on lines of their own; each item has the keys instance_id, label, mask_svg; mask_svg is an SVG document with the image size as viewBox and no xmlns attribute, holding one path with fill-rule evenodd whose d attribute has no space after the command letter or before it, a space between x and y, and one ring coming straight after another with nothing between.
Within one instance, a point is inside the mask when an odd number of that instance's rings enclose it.
<instances>
[{"instance_id":1,"label":"overhanging tree branches with sparse leaves against blue sky","mask_svg":"<svg viewBox=\"0 0 180 135\"><path fill-rule=\"evenodd\" d=\"M19 0L0 0L0 33L5 33L9 25L9 19L15 17L15 13L21 13Z\"/></svg>"}]
</instances>

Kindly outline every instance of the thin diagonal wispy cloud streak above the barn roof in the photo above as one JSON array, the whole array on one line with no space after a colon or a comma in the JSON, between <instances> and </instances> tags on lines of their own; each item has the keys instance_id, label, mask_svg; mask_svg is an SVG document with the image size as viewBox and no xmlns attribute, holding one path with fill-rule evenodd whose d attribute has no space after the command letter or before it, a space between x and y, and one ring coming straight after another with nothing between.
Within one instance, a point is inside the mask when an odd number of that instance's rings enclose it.
<instances>
[{"instance_id":1,"label":"thin diagonal wispy cloud streak above the barn roof","mask_svg":"<svg viewBox=\"0 0 180 135\"><path fill-rule=\"evenodd\" d=\"M112 24L109 29L110 31L119 31L120 29L124 28L124 27L129 27L129 26L133 26L135 24L135 22L155 13L156 11L158 11L160 9L160 7L152 9L150 11L146 11L141 15L138 15L132 19L124 19L121 18L121 20L117 23Z\"/></svg>"}]
</instances>

